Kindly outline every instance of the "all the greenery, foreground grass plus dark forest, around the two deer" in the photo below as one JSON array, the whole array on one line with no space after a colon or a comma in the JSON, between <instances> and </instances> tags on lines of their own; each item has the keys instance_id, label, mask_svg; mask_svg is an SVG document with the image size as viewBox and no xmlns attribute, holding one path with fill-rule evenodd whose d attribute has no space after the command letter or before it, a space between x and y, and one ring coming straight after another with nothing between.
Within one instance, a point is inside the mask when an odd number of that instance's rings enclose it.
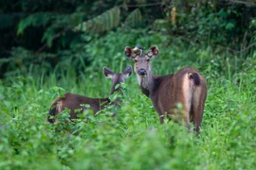
<instances>
[{"instance_id":1,"label":"all the greenery, foreground grass plus dark forest, around the two deer","mask_svg":"<svg viewBox=\"0 0 256 170\"><path fill-rule=\"evenodd\" d=\"M250 1L1 1L0 169L254 169L256 4ZM127 78L119 114L64 111L65 92L105 97L125 46L158 45L155 75L185 66L208 81L198 137L166 120Z\"/></svg>"}]
</instances>

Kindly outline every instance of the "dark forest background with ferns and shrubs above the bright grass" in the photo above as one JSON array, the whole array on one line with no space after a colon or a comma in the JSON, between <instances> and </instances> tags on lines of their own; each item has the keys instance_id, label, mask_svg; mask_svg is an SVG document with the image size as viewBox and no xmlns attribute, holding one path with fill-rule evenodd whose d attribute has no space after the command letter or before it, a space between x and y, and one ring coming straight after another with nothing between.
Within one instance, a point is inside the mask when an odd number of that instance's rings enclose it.
<instances>
[{"instance_id":1,"label":"dark forest background with ferns and shrubs above the bright grass","mask_svg":"<svg viewBox=\"0 0 256 170\"><path fill-rule=\"evenodd\" d=\"M163 53L210 47L243 62L255 50L255 17L254 0L2 0L0 77L70 64L79 74L112 60L109 51L155 39Z\"/></svg>"}]
</instances>

